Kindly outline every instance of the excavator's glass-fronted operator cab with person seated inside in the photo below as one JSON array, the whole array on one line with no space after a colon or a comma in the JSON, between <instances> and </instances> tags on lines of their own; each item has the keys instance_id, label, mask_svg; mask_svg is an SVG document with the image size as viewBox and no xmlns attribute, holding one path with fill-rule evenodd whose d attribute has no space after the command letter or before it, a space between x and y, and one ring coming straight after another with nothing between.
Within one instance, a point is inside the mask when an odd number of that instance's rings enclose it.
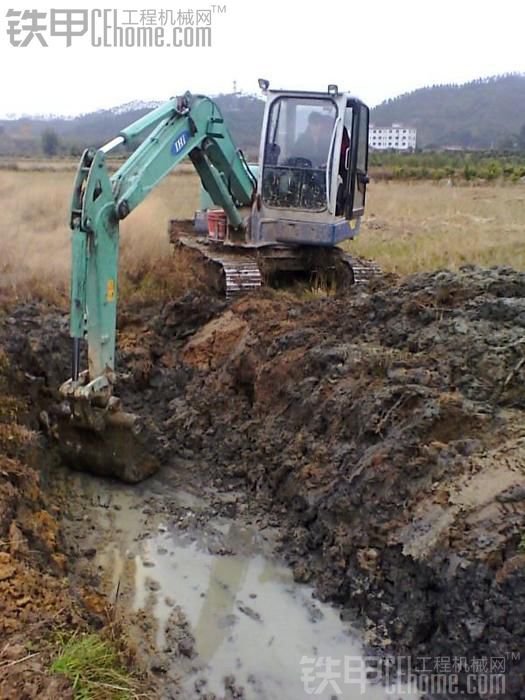
<instances>
[{"instance_id":1,"label":"excavator's glass-fronted operator cab with person seated inside","mask_svg":"<svg viewBox=\"0 0 525 700\"><path fill-rule=\"evenodd\" d=\"M253 243L333 246L353 238L368 182L368 107L336 86L266 94Z\"/></svg>"}]
</instances>

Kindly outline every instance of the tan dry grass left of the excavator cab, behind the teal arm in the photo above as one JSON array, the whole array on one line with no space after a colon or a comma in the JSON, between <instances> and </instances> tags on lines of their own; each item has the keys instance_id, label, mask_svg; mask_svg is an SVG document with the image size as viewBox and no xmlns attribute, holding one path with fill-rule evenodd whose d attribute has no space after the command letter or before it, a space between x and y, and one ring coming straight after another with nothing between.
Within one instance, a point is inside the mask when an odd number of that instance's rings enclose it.
<instances>
[{"instance_id":1,"label":"tan dry grass left of the excavator cab, behind the teal arm","mask_svg":"<svg viewBox=\"0 0 525 700\"><path fill-rule=\"evenodd\" d=\"M74 174L0 171L0 291L64 303L70 274L68 208ZM136 277L170 256L167 226L198 205L196 176L167 178L121 224L121 268Z\"/></svg>"}]
</instances>

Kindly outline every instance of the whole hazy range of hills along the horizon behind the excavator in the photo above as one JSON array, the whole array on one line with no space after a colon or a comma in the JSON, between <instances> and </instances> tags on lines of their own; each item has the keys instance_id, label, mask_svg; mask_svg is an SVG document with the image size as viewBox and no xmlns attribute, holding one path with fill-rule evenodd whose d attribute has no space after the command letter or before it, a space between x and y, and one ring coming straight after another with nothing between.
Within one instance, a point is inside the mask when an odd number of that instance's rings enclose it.
<instances>
[{"instance_id":1,"label":"whole hazy range of hills along the horizon behind the excavator","mask_svg":"<svg viewBox=\"0 0 525 700\"><path fill-rule=\"evenodd\" d=\"M214 99L235 142L248 157L256 157L264 101L238 93L216 95ZM0 155L40 153L42 133L46 130L56 133L64 153L100 146L157 104L131 102L75 118L3 119L0 120ZM372 110L371 119L378 126L400 122L417 127L419 147L509 149L520 146L525 150L525 74L421 88L381 103Z\"/></svg>"}]
</instances>

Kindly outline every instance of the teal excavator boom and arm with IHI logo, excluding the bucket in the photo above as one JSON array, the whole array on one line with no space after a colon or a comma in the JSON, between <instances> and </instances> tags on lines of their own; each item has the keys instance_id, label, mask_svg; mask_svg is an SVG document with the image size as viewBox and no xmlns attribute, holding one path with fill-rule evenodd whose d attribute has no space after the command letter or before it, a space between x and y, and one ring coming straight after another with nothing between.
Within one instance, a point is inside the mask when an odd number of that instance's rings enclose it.
<instances>
[{"instance_id":1,"label":"teal excavator boom and arm with IHI logo, excluding the bucket","mask_svg":"<svg viewBox=\"0 0 525 700\"><path fill-rule=\"evenodd\" d=\"M106 155L148 130L140 146L110 175ZM110 426L136 429L137 417L123 413L113 395L119 222L186 156L230 224L242 228L240 209L252 202L255 178L235 147L220 110L208 97L186 93L174 98L123 129L102 148L88 149L82 156L70 220L72 376L61 387L69 404L68 432L72 424L99 435ZM88 369L82 372L81 342L85 338ZM78 445L75 449L80 450Z\"/></svg>"}]
</instances>

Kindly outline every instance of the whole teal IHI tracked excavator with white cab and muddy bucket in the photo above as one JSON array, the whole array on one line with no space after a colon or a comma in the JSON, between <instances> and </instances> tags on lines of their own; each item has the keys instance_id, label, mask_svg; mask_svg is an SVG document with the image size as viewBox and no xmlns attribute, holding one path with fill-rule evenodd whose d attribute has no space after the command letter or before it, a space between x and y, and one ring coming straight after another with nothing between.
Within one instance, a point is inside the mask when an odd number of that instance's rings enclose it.
<instances>
[{"instance_id":1,"label":"whole teal IHI tracked excavator with white cab and muddy bucket","mask_svg":"<svg viewBox=\"0 0 525 700\"><path fill-rule=\"evenodd\" d=\"M119 222L185 159L200 177L203 206L193 221L172 221L170 237L208 265L227 298L276 275L323 273L346 286L376 272L337 245L357 235L364 213L368 107L336 85L259 86L267 99L257 166L234 144L216 102L189 92L82 155L70 216L72 370L60 387L58 422L73 466L128 482L158 467L144 421L114 393ZM111 174L108 153L140 137Z\"/></svg>"}]
</instances>

